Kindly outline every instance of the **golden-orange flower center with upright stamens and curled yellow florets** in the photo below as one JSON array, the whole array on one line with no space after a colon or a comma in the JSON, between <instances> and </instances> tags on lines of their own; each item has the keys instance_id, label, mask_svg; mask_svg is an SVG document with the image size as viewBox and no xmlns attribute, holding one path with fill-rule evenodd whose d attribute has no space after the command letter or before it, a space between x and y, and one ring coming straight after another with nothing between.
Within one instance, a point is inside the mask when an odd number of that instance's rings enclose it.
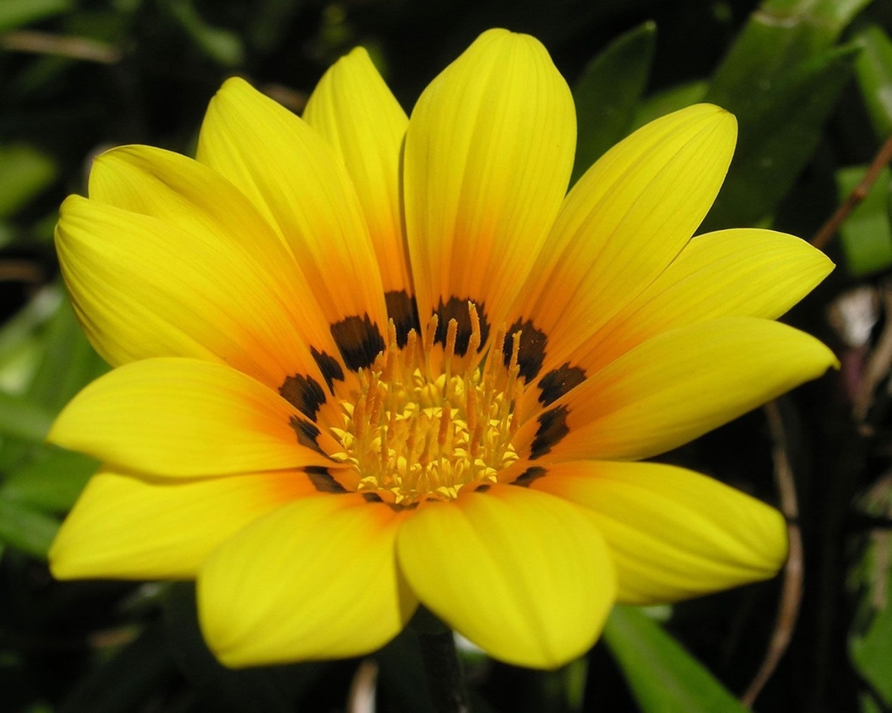
<instances>
[{"instance_id":1,"label":"golden-orange flower center with upright stamens and curled yellow florets","mask_svg":"<svg viewBox=\"0 0 892 713\"><path fill-rule=\"evenodd\" d=\"M473 302L468 311L471 338L464 356L456 355L455 319L447 325L445 347L434 343L434 315L422 335L409 332L402 348L391 322L387 346L359 372L355 397L342 401L343 425L331 429L342 450L330 454L358 471L359 492L403 506L450 500L467 486L496 482L517 460L511 438L523 391L517 378L520 332L508 340L508 359L504 327L483 358Z\"/></svg>"}]
</instances>

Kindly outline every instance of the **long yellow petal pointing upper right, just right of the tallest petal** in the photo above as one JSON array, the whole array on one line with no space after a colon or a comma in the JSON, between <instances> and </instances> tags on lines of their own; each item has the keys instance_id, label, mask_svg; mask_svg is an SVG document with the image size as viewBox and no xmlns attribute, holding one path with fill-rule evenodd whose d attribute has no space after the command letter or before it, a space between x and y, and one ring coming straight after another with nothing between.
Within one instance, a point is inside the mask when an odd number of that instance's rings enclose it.
<instances>
[{"instance_id":1,"label":"long yellow petal pointing upper right, just right of the tallest petal","mask_svg":"<svg viewBox=\"0 0 892 713\"><path fill-rule=\"evenodd\" d=\"M579 347L659 275L722 185L737 135L700 104L640 128L574 185L511 319L545 333L545 368Z\"/></svg>"}]
</instances>

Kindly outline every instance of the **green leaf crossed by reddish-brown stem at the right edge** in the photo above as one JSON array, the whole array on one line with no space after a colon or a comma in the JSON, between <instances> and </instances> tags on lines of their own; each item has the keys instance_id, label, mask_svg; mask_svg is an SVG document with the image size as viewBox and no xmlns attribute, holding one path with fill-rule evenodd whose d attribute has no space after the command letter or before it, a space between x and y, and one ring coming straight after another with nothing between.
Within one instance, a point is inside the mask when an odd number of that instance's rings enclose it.
<instances>
[{"instance_id":1,"label":"green leaf crossed by reddish-brown stem at the right edge","mask_svg":"<svg viewBox=\"0 0 892 713\"><path fill-rule=\"evenodd\" d=\"M842 168L837 171L840 203L855 190L866 174L866 166ZM892 172L888 168L883 168L861 204L839 226L839 242L851 275L867 275L892 265L892 226L889 225L890 183L892 183Z\"/></svg>"}]
</instances>

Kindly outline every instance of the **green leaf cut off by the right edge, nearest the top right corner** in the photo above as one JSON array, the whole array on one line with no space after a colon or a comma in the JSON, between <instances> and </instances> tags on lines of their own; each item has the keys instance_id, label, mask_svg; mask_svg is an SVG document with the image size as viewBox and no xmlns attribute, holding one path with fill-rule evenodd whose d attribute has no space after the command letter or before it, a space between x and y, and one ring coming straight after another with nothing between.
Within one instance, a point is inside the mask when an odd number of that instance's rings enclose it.
<instances>
[{"instance_id":1,"label":"green leaf cut off by the right edge, nearest the top right corner","mask_svg":"<svg viewBox=\"0 0 892 713\"><path fill-rule=\"evenodd\" d=\"M855 78L873 131L880 141L892 134L892 40L876 25L855 36L861 53L855 61Z\"/></svg>"}]
</instances>

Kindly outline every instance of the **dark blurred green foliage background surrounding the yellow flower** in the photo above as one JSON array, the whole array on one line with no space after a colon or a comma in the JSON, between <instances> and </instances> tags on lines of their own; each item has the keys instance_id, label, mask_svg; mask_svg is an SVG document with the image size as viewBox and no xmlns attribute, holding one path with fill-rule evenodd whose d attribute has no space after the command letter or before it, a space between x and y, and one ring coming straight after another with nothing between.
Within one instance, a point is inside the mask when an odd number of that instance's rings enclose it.
<instances>
[{"instance_id":1,"label":"dark blurred green foliage background surrounding the yellow flower","mask_svg":"<svg viewBox=\"0 0 892 713\"><path fill-rule=\"evenodd\" d=\"M770 226L827 250L837 270L784 319L842 368L658 459L783 509L785 575L618 608L554 672L467 651L475 710L892 710L892 0L0 0L0 710L361 713L373 689L378 711L432 710L408 632L368 660L234 672L202 643L191 585L50 577L96 463L43 439L107 368L67 306L53 228L96 152L193 152L229 76L299 113L365 45L410 111L497 26L539 37L572 86L574 177L667 111L733 111L738 150L701 231Z\"/></svg>"}]
</instances>

